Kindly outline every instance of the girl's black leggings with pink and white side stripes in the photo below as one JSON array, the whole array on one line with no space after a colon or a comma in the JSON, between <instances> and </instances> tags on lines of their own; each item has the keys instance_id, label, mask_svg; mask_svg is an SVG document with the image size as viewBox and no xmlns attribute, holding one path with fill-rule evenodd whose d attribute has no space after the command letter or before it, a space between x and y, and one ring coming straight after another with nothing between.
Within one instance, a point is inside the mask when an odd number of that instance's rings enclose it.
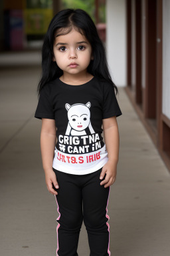
<instances>
[{"instance_id":1,"label":"girl's black leggings with pink and white side stripes","mask_svg":"<svg viewBox=\"0 0 170 256\"><path fill-rule=\"evenodd\" d=\"M59 189L56 203L59 216L56 256L78 256L78 238L82 221L88 232L90 256L110 255L110 231L107 215L110 187L100 185L102 168L86 175L73 175L53 168ZM104 177L105 178L105 177Z\"/></svg>"}]
</instances>

